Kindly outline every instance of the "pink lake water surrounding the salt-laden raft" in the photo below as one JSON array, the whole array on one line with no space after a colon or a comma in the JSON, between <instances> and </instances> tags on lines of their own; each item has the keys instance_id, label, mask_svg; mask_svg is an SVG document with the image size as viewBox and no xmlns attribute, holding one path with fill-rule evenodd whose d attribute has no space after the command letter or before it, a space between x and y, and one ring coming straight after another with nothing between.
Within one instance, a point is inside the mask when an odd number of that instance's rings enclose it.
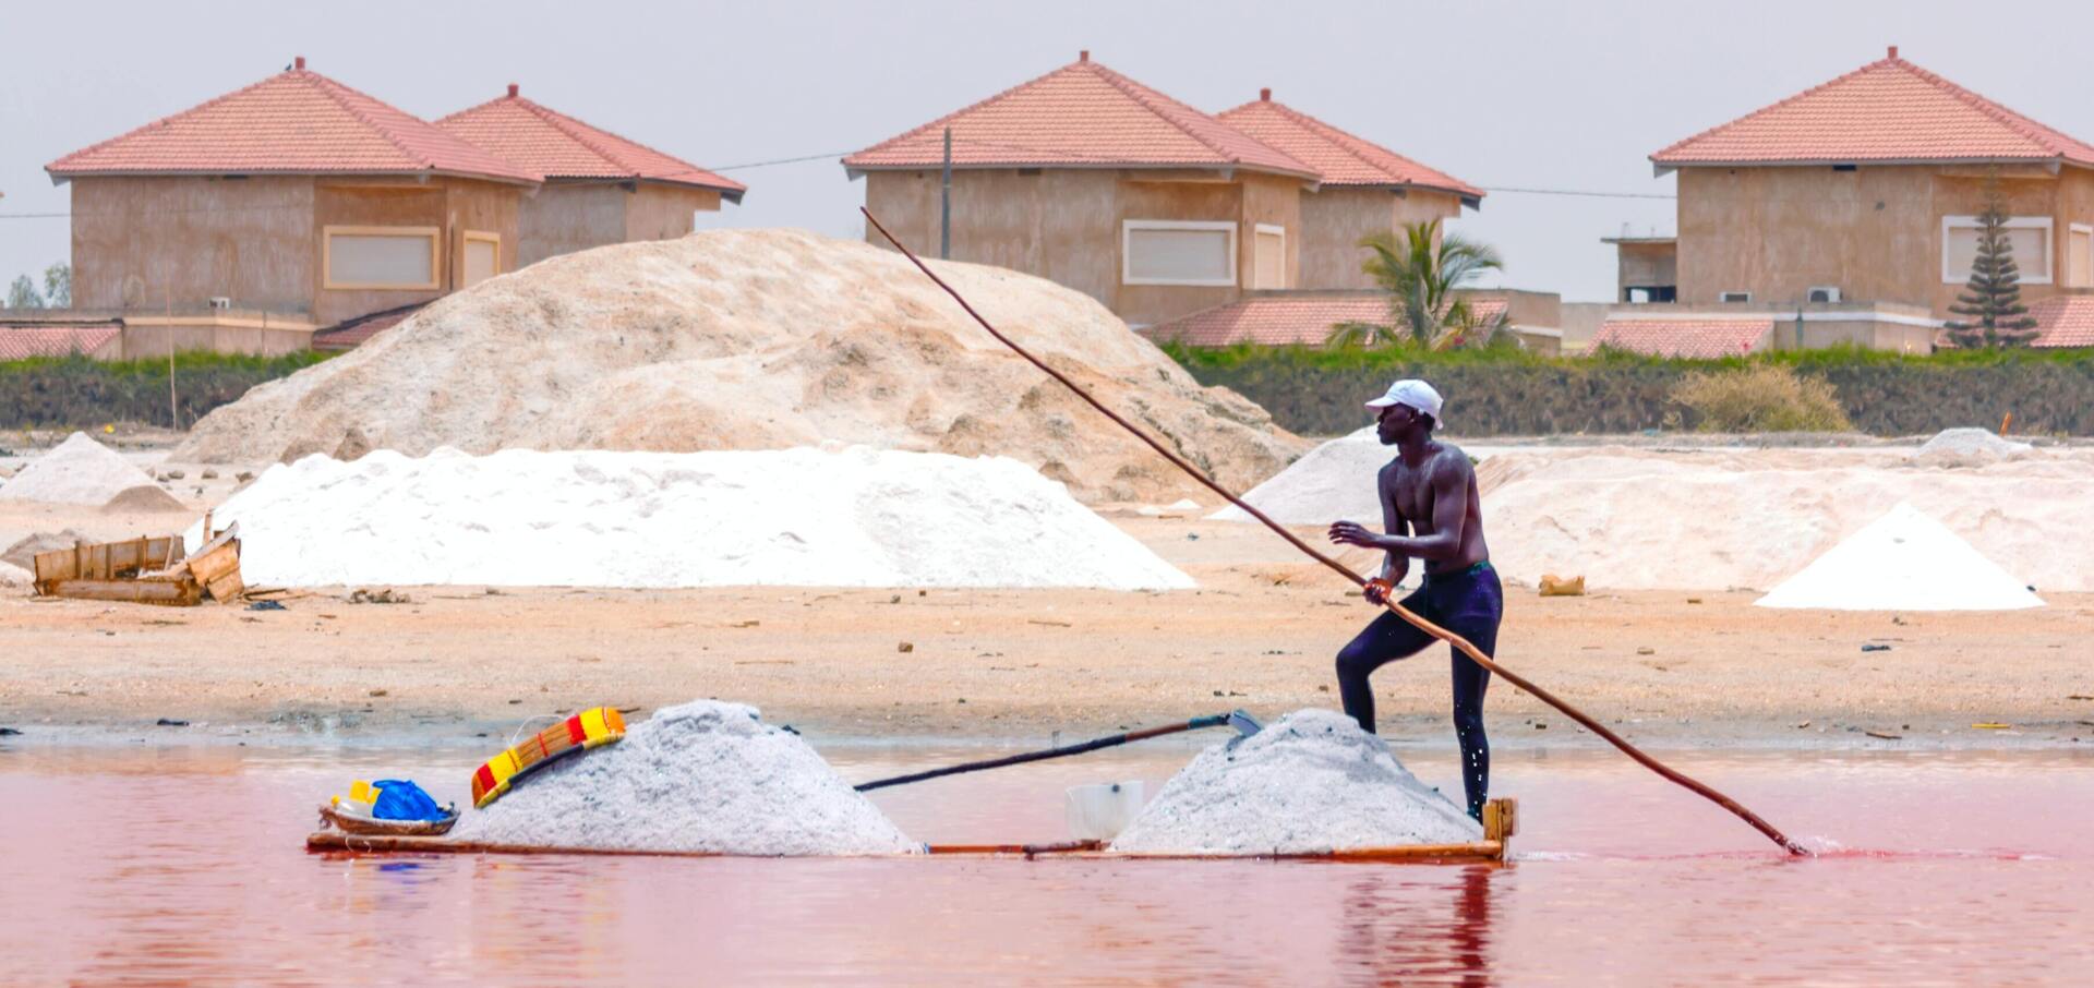
<instances>
[{"instance_id":1,"label":"pink lake water surrounding the salt-laden raft","mask_svg":"<svg viewBox=\"0 0 2094 988\"><path fill-rule=\"evenodd\" d=\"M984 749L840 747L846 777ZM1057 839L1183 747L917 787L917 839ZM1405 754L1453 783L1436 751ZM4 984L2086 984L2094 758L1675 754L1834 852L1786 860L1606 751L1501 751L1506 867L329 858L354 777L465 751L0 745ZM1457 783L1453 783L1457 785ZM1154 791L1154 789L1152 789ZM197 827L191 821L211 821Z\"/></svg>"}]
</instances>

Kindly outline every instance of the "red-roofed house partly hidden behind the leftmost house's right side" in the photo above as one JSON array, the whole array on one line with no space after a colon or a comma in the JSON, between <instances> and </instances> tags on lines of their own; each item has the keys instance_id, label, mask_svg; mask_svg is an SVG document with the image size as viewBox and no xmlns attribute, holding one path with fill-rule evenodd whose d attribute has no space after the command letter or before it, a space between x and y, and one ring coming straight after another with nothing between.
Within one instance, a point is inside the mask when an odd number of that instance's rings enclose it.
<instances>
[{"instance_id":1,"label":"red-roofed house partly hidden behind the leftmost house's right side","mask_svg":"<svg viewBox=\"0 0 2094 988\"><path fill-rule=\"evenodd\" d=\"M666 241L691 232L697 211L741 203L748 186L609 130L509 94L436 121L515 161L544 186L517 207L517 266L605 243Z\"/></svg>"}]
</instances>

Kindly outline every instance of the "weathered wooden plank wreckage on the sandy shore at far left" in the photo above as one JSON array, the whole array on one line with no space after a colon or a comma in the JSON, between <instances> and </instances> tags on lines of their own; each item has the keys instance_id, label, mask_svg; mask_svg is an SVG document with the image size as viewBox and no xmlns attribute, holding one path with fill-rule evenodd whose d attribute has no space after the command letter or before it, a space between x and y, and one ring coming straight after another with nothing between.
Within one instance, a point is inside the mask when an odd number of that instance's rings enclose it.
<instances>
[{"instance_id":1,"label":"weathered wooden plank wreckage on the sandy shore at far left","mask_svg":"<svg viewBox=\"0 0 2094 988\"><path fill-rule=\"evenodd\" d=\"M193 607L205 597L230 603L245 590L239 523L218 532L195 553L182 553L182 536L140 536L124 542L75 542L73 548L36 555L38 597Z\"/></svg>"}]
</instances>

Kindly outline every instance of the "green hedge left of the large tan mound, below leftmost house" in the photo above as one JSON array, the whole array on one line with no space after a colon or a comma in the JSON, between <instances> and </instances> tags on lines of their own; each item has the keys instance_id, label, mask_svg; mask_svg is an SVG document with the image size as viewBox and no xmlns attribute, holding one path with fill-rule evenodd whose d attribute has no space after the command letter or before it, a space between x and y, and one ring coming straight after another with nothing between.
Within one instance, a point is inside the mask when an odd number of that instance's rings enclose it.
<instances>
[{"instance_id":1,"label":"green hedge left of the large tan mound, below leftmost house","mask_svg":"<svg viewBox=\"0 0 2094 988\"><path fill-rule=\"evenodd\" d=\"M178 423L168 419L168 360L84 356L0 360L0 427L86 429L105 423L188 427L262 381L318 364L333 354L176 354Z\"/></svg>"}]
</instances>

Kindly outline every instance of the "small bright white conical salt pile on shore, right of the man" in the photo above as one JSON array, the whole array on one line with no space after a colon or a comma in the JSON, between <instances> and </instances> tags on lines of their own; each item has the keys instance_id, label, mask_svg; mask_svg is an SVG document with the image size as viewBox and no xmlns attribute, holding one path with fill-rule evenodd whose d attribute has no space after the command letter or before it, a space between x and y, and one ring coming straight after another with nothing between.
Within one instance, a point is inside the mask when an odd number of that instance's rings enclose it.
<instances>
[{"instance_id":1,"label":"small bright white conical salt pile on shore, right of the man","mask_svg":"<svg viewBox=\"0 0 2094 988\"><path fill-rule=\"evenodd\" d=\"M2042 607L2012 574L1926 515L1897 502L1847 536L1759 607L1826 611L2019 611Z\"/></svg>"}]
</instances>

